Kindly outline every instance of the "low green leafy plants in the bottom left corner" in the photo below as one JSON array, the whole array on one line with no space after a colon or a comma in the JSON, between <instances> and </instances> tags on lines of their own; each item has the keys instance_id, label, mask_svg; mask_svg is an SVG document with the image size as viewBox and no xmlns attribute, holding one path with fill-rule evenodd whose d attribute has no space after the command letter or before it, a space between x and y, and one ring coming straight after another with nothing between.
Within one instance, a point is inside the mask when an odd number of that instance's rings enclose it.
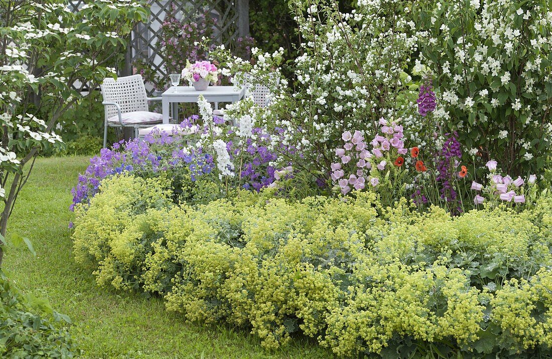
<instances>
[{"instance_id":1,"label":"low green leafy plants in the bottom left corner","mask_svg":"<svg viewBox=\"0 0 552 359\"><path fill-rule=\"evenodd\" d=\"M35 302L35 306L49 308L39 299ZM41 315L30 313L30 304L0 270L0 358L72 358L77 350L71 336Z\"/></svg>"}]
</instances>

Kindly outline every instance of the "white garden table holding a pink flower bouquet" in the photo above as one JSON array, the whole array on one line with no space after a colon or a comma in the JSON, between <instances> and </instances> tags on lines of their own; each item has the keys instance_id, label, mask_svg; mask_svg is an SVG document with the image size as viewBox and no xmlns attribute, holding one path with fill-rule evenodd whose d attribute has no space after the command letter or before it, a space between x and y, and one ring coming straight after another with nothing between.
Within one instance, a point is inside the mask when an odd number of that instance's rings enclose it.
<instances>
[{"instance_id":1,"label":"white garden table holding a pink flower bouquet","mask_svg":"<svg viewBox=\"0 0 552 359\"><path fill-rule=\"evenodd\" d=\"M241 100L244 94L245 88L236 90L233 86L209 86L205 91L197 91L193 86L172 86L161 95L163 124L169 123L169 107L172 107L173 119L178 123L178 104L197 103L199 95L203 95L208 102L214 102L215 110L218 110L219 102L235 103Z\"/></svg>"}]
</instances>

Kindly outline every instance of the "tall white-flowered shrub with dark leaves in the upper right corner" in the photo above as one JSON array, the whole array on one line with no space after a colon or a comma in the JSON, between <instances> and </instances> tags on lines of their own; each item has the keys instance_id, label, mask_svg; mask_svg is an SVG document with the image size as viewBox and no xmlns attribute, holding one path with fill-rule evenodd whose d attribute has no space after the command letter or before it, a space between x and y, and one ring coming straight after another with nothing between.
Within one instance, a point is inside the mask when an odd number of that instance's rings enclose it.
<instances>
[{"instance_id":1,"label":"tall white-flowered shrub with dark leaves in the upper right corner","mask_svg":"<svg viewBox=\"0 0 552 359\"><path fill-rule=\"evenodd\" d=\"M440 114L481 164L542 170L552 143L550 2L438 1L415 12Z\"/></svg>"}]
</instances>

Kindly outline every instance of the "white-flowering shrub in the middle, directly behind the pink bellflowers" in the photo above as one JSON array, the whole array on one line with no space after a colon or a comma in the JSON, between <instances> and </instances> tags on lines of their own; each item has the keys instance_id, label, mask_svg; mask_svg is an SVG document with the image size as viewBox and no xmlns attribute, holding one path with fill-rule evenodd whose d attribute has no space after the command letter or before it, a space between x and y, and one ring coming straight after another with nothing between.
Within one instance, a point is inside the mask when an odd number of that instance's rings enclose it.
<instances>
[{"instance_id":1,"label":"white-flowering shrub in the middle, directly behind the pink bellflowers","mask_svg":"<svg viewBox=\"0 0 552 359\"><path fill-rule=\"evenodd\" d=\"M311 183L327 180L332 149L344 131L373 136L381 117L392 121L415 111L417 89L405 69L418 40L404 14L408 3L360 1L355 12L342 13L332 1L290 2L302 39L299 56L288 65L294 83L270 81L281 73L283 49L272 54L253 49L254 65L216 49L211 56L225 66L223 74L239 83L246 73L273 93L266 108L243 101L226 113L239 118L253 111L259 123L282 133L281 143L297 150L293 158L280 154L280 166L293 160Z\"/></svg>"}]
</instances>

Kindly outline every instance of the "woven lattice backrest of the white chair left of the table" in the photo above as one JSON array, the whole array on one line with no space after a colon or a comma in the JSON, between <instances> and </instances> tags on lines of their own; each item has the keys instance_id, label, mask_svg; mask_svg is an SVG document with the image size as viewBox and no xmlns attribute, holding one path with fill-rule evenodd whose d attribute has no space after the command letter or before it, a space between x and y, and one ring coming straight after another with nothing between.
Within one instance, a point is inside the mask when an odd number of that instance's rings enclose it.
<instances>
[{"instance_id":1,"label":"woven lattice backrest of the white chair left of the table","mask_svg":"<svg viewBox=\"0 0 552 359\"><path fill-rule=\"evenodd\" d=\"M105 78L100 85L105 102L114 102L121 108L121 113L148 111L146 87L141 75ZM115 106L105 106L105 119L117 115Z\"/></svg>"}]
</instances>

